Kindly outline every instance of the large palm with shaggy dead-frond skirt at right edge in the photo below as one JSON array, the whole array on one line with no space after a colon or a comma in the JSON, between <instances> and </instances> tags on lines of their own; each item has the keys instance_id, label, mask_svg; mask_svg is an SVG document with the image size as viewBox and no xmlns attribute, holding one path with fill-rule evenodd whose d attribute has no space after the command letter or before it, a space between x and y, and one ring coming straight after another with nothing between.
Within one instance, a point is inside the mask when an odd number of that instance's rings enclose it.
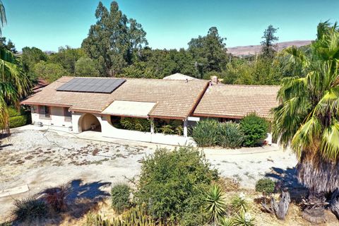
<instances>
[{"instance_id":1,"label":"large palm with shaggy dead-frond skirt at right edge","mask_svg":"<svg viewBox=\"0 0 339 226\"><path fill-rule=\"evenodd\" d=\"M297 154L297 177L309 198L339 188L339 30L319 23L309 51L285 50L302 69L285 78L273 110L273 136ZM299 70L297 70L299 71ZM323 196L320 196L323 197Z\"/></svg>"}]
</instances>

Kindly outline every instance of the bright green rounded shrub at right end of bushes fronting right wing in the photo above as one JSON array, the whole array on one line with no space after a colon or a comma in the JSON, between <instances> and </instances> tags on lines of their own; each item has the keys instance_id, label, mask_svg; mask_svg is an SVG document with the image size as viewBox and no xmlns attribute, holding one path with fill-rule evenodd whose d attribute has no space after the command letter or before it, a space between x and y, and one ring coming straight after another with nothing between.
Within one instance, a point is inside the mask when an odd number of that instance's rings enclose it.
<instances>
[{"instance_id":1,"label":"bright green rounded shrub at right end of bushes fronting right wing","mask_svg":"<svg viewBox=\"0 0 339 226\"><path fill-rule=\"evenodd\" d=\"M249 114L240 121L241 129L244 133L244 145L254 146L263 141L268 132L268 121L256 114Z\"/></svg>"}]
</instances>

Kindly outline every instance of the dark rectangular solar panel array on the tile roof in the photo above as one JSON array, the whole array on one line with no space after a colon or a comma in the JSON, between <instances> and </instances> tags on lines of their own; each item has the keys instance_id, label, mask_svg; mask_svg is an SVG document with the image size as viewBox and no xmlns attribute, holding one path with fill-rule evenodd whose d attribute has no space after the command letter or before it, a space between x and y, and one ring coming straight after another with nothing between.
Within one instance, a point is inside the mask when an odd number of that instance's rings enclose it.
<instances>
[{"instance_id":1,"label":"dark rectangular solar panel array on the tile roof","mask_svg":"<svg viewBox=\"0 0 339 226\"><path fill-rule=\"evenodd\" d=\"M124 78L73 78L57 88L57 91L112 93L125 81Z\"/></svg>"}]
</instances>

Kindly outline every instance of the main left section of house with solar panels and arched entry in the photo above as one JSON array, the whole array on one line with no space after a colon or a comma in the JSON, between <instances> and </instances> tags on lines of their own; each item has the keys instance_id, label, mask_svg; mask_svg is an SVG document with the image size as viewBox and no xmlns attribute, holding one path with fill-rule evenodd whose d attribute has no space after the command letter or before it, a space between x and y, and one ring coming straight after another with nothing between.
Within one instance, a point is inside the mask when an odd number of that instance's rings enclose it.
<instances>
[{"instance_id":1,"label":"main left section of house with solar panels and arched entry","mask_svg":"<svg viewBox=\"0 0 339 226\"><path fill-rule=\"evenodd\" d=\"M81 133L101 131L102 136L136 141L185 145L189 116L208 81L62 77L23 100L30 105L32 121L55 129ZM183 136L117 129L116 117L181 121ZM153 125L153 124L151 124Z\"/></svg>"}]
</instances>

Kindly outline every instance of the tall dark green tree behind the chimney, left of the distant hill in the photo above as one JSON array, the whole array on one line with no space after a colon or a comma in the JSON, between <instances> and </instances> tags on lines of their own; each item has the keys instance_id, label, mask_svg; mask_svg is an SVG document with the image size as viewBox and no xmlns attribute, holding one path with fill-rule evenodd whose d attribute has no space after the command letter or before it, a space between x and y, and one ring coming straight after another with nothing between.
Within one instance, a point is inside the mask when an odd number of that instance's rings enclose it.
<instances>
[{"instance_id":1,"label":"tall dark green tree behind the chimney, left of the distant hill","mask_svg":"<svg viewBox=\"0 0 339 226\"><path fill-rule=\"evenodd\" d=\"M212 27L206 36L192 38L189 52L194 57L197 71L203 74L209 71L222 71L227 63L225 38L220 37L218 29Z\"/></svg>"}]
</instances>

